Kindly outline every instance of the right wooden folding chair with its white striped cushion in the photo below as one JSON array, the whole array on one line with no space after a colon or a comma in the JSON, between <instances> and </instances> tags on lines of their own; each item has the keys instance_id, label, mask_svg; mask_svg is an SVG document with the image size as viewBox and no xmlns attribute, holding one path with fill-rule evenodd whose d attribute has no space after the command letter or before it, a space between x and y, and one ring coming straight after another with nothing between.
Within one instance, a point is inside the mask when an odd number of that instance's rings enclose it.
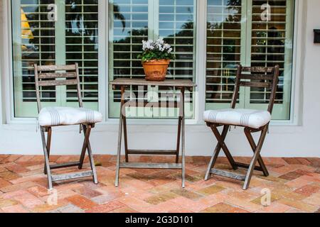
<instances>
[{"instance_id":1,"label":"right wooden folding chair with its white striped cushion","mask_svg":"<svg viewBox=\"0 0 320 227\"><path fill-rule=\"evenodd\" d=\"M203 118L207 123L207 126L211 128L215 138L218 140L218 145L215 147L208 170L206 172L205 180L208 180L211 174L220 175L223 177L229 177L233 179L239 179L245 181L243 189L246 190L249 187L253 170L259 170L267 177L269 175L267 167L260 156L260 151L265 140L265 136L268 131L269 123L271 120L272 109L274 106L274 99L277 92L277 83L279 77L279 66L275 67L242 67L238 65L235 89L233 92L233 99L231 102L231 109L223 109L217 111L205 111ZM237 104L238 94L240 87L259 87L270 92L270 101L267 111L252 110L252 109L235 109ZM222 133L219 133L218 127L223 126ZM235 162L233 156L230 154L227 146L225 145L225 138L230 126L242 126L244 127L245 135L253 150L252 160L250 165ZM252 138L251 133L260 132L260 138L258 143L255 144L255 140ZM233 170L237 170L238 167L246 168L247 175L239 175L235 172L227 172L225 170L214 169L215 162L218 158L220 150L225 153ZM256 166L256 162L259 166Z\"/></svg>"}]
</instances>

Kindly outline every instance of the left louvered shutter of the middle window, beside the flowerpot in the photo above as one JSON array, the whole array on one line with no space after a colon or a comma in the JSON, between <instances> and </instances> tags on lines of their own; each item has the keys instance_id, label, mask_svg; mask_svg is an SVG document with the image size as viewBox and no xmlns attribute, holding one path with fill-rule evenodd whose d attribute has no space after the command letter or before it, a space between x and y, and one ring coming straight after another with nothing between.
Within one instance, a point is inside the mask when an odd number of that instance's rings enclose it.
<instances>
[{"instance_id":1,"label":"left louvered shutter of the middle window, beside the flowerpot","mask_svg":"<svg viewBox=\"0 0 320 227\"><path fill-rule=\"evenodd\" d=\"M142 40L148 40L148 0L110 1L110 81L116 78L143 78L144 70L137 55L142 52ZM138 87L128 92L138 96ZM144 91L146 92L146 88ZM120 91L110 92L110 118L119 117Z\"/></svg>"}]
</instances>

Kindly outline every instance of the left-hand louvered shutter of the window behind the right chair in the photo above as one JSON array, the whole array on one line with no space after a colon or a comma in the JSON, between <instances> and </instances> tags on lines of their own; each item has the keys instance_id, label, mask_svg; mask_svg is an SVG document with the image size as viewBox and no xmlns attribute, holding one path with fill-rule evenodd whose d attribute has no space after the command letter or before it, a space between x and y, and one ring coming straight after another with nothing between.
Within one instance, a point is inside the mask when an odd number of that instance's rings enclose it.
<instances>
[{"instance_id":1,"label":"left-hand louvered shutter of the window behind the right chair","mask_svg":"<svg viewBox=\"0 0 320 227\"><path fill-rule=\"evenodd\" d=\"M206 109L228 107L241 62L242 1L208 0Z\"/></svg>"}]
</instances>

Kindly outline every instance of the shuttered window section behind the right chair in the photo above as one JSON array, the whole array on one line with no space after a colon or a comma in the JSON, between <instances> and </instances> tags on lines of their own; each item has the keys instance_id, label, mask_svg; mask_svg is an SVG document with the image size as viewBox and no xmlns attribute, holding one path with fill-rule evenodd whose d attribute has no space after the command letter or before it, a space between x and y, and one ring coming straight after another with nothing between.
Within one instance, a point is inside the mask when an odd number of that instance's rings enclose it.
<instances>
[{"instance_id":1,"label":"shuttered window section behind the right chair","mask_svg":"<svg viewBox=\"0 0 320 227\"><path fill-rule=\"evenodd\" d=\"M237 64L278 64L272 118L289 120L293 15L293 0L208 0L206 109L229 107ZM269 96L267 89L242 88L238 106L266 109Z\"/></svg>"}]
</instances>

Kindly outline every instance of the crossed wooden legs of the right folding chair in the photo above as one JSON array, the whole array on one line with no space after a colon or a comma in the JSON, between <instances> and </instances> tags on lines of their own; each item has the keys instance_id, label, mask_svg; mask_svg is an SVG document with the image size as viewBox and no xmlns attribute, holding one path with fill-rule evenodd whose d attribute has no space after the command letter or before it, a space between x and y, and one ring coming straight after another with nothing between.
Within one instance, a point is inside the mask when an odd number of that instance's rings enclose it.
<instances>
[{"instance_id":1,"label":"crossed wooden legs of the right folding chair","mask_svg":"<svg viewBox=\"0 0 320 227\"><path fill-rule=\"evenodd\" d=\"M243 184L242 189L246 190L249 187L250 180L251 180L251 177L253 174L253 170L258 170L258 171L263 172L265 177L267 177L269 175L269 172L267 171L267 167L265 166L265 163L263 162L262 157L260 156L260 151L261 151L263 142L265 141L265 135L267 134L268 125L263 126L262 128L259 128L259 129L245 128L245 130L244 130L245 135L247 137L247 140L249 141L250 146L252 148L252 151L254 153L252 156L252 160L250 162L250 165L240 163L240 162L235 162L235 160L233 160L233 156L230 154L230 151L228 150L227 146L225 145L225 137L228 134L228 130L229 130L230 126L228 126L228 125L223 126L223 131L220 134L218 131L218 127L220 125L217 125L215 123L207 123L207 125L213 131L215 138L217 138L218 145L215 147L215 150L214 150L213 155L211 157L210 163L208 165L208 170L206 172L205 180L208 180L211 174L220 175L223 177L229 177L229 178L233 178L233 179L238 179L238 180L242 180L245 182L245 184ZM257 133L257 132L261 132L261 135L260 135L259 141L256 145L255 140L253 140L251 133ZM224 170L214 169L213 167L215 165L215 162L218 158L218 155L219 155L221 149L225 153L225 156L227 157L228 161L230 162L230 165L233 167L233 170L237 170L238 167L246 168L247 175L239 175L234 172L227 172ZM259 166L256 166L257 162L259 163Z\"/></svg>"}]
</instances>

